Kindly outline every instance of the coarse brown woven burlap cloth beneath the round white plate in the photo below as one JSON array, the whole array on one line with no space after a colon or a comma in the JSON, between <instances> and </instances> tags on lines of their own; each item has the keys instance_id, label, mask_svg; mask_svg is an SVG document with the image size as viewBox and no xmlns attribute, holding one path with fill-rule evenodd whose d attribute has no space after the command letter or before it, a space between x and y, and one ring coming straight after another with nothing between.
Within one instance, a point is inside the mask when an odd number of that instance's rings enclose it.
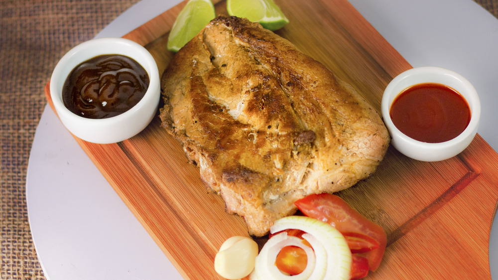
<instances>
[{"instance_id":1,"label":"coarse brown woven burlap cloth beneath the round white plate","mask_svg":"<svg viewBox=\"0 0 498 280\"><path fill-rule=\"evenodd\" d=\"M0 279L45 279L29 230L29 151L57 61L138 0L0 0ZM498 0L476 0L498 17Z\"/></svg>"}]
</instances>

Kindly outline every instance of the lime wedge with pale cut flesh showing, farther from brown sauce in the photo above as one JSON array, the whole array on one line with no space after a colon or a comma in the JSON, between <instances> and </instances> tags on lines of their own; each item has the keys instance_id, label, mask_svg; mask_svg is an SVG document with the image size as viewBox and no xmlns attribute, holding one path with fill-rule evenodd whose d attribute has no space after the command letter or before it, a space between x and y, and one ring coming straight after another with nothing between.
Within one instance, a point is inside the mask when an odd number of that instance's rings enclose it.
<instances>
[{"instance_id":1,"label":"lime wedge with pale cut flesh showing, farther from brown sauce","mask_svg":"<svg viewBox=\"0 0 498 280\"><path fill-rule=\"evenodd\" d=\"M227 0L227 11L230 15L259 22L270 30L280 29L289 23L273 0Z\"/></svg>"}]
</instances>

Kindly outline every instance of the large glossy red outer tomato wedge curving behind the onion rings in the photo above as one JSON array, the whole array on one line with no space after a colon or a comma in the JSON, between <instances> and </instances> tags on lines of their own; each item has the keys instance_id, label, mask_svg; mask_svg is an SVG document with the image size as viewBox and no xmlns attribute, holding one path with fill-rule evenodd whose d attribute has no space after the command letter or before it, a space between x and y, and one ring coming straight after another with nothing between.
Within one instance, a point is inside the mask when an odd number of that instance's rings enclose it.
<instances>
[{"instance_id":1,"label":"large glossy red outer tomato wedge curving behind the onion rings","mask_svg":"<svg viewBox=\"0 0 498 280\"><path fill-rule=\"evenodd\" d=\"M373 223L337 195L329 193L312 194L294 202L304 215L326 222L341 233L358 233L369 236L378 247L359 256L367 258L369 268L375 271L384 255L387 238L384 230Z\"/></svg>"}]
</instances>

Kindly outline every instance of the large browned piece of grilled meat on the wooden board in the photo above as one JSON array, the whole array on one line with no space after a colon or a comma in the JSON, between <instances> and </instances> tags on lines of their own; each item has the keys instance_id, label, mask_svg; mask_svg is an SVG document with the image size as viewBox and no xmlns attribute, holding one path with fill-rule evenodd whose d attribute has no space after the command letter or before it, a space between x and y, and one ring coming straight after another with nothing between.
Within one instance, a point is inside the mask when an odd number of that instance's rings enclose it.
<instances>
[{"instance_id":1,"label":"large browned piece of grilled meat on the wooden board","mask_svg":"<svg viewBox=\"0 0 498 280\"><path fill-rule=\"evenodd\" d=\"M379 114L351 86L259 24L219 16L161 78L162 126L249 234L294 201L371 175L389 145Z\"/></svg>"}]
</instances>

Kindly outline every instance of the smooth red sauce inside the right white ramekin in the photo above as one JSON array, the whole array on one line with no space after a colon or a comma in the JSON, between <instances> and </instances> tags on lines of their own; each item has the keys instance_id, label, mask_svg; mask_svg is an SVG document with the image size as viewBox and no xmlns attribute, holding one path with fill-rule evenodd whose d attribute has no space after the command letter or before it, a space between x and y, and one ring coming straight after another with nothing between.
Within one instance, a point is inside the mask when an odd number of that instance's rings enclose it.
<instances>
[{"instance_id":1,"label":"smooth red sauce inside the right white ramekin","mask_svg":"<svg viewBox=\"0 0 498 280\"><path fill-rule=\"evenodd\" d=\"M403 134L428 143L452 140L471 118L467 101L454 89L436 83L405 89L392 102L389 114Z\"/></svg>"}]
</instances>

